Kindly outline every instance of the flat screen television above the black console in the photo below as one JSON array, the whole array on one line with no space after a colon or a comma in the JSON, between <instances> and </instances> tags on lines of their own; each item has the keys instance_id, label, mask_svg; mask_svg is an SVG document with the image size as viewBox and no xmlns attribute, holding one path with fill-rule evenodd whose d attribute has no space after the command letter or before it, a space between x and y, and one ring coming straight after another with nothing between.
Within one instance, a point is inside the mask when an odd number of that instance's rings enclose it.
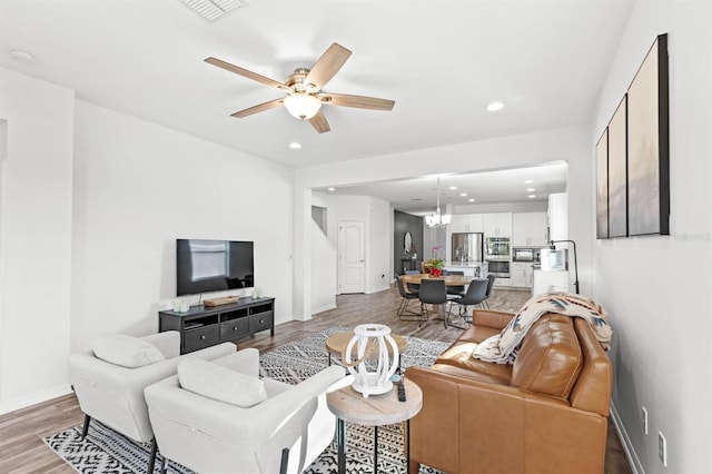
<instances>
[{"instance_id":1,"label":"flat screen television above the black console","mask_svg":"<svg viewBox=\"0 0 712 474\"><path fill-rule=\"evenodd\" d=\"M176 240L176 295L255 286L254 243Z\"/></svg>"}]
</instances>

